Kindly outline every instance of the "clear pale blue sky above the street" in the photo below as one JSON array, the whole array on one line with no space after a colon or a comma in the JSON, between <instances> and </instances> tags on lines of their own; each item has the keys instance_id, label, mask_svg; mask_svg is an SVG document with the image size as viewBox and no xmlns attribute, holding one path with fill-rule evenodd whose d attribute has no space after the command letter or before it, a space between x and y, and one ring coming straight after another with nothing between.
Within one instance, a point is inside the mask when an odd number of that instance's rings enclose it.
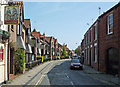
<instances>
[{"instance_id":1,"label":"clear pale blue sky above the street","mask_svg":"<svg viewBox=\"0 0 120 87\"><path fill-rule=\"evenodd\" d=\"M74 50L98 16L116 4L117 2L25 2L24 12L25 18L31 19L32 30L35 28L41 34L54 36L60 44L65 43Z\"/></svg>"}]
</instances>

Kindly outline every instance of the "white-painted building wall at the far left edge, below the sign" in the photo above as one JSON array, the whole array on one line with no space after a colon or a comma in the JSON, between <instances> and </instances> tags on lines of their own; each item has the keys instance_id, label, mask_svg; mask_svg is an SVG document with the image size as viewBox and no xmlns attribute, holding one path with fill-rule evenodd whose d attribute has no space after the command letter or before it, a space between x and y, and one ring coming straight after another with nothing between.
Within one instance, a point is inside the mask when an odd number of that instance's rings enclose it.
<instances>
[{"instance_id":1,"label":"white-painted building wall at the far left edge, below the sign","mask_svg":"<svg viewBox=\"0 0 120 87\"><path fill-rule=\"evenodd\" d=\"M0 25L0 29L5 31L8 31L8 25L4 25L4 7L6 5L2 5L2 4L7 4L7 1L8 0L0 0L0 18L1 18L0 21L3 23L2 25ZM5 44L0 43L0 47L1 46L5 47ZM6 54L5 54L5 51L6 51ZM0 61L0 83L8 79L7 78L7 45L6 45L6 48L4 48L3 55L4 55L3 61Z\"/></svg>"}]
</instances>

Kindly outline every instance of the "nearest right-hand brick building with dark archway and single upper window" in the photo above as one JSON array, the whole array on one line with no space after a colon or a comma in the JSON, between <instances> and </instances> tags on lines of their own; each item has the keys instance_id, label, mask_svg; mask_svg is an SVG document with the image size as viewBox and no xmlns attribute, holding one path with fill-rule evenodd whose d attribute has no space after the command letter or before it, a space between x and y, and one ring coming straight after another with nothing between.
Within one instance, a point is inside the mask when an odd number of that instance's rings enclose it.
<instances>
[{"instance_id":1,"label":"nearest right-hand brick building with dark archway and single upper window","mask_svg":"<svg viewBox=\"0 0 120 87\"><path fill-rule=\"evenodd\" d=\"M99 17L99 70L120 76L120 3Z\"/></svg>"}]
</instances>

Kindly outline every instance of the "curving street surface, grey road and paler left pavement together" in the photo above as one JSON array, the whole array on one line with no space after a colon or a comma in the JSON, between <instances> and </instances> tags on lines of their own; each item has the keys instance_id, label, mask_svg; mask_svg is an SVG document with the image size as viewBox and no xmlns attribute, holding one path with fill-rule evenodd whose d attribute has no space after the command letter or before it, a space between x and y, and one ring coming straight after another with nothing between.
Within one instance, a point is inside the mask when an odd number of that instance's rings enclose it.
<instances>
[{"instance_id":1,"label":"curving street surface, grey road and paler left pavement together","mask_svg":"<svg viewBox=\"0 0 120 87\"><path fill-rule=\"evenodd\" d=\"M5 85L11 85L11 87L13 85L34 85L34 87L38 85L116 85L119 87L120 79L85 65L83 70L70 70L70 60L67 59L40 64Z\"/></svg>"}]
</instances>

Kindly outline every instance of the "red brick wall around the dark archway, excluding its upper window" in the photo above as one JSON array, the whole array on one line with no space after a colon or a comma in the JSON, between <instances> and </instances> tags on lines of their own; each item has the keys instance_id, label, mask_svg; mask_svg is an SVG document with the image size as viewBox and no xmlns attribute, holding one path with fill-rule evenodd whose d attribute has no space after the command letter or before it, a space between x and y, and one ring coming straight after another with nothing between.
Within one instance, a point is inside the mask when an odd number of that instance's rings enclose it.
<instances>
[{"instance_id":1,"label":"red brick wall around the dark archway, excluding its upper window","mask_svg":"<svg viewBox=\"0 0 120 87\"><path fill-rule=\"evenodd\" d=\"M119 12L118 12L119 11ZM107 34L107 17L113 13L113 34ZM119 19L119 20L118 20ZM99 70L101 72L107 71L107 49L119 47L119 26L120 22L120 7L112 10L111 12L103 15L99 19Z\"/></svg>"}]
</instances>

